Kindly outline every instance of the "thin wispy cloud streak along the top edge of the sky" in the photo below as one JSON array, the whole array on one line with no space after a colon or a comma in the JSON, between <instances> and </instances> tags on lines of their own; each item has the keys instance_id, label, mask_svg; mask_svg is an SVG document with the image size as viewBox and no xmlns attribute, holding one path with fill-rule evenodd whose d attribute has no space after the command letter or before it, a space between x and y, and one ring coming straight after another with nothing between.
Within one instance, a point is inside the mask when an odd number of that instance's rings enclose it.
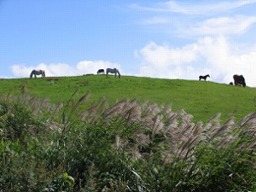
<instances>
[{"instance_id":1,"label":"thin wispy cloud streak along the top edge of the sky","mask_svg":"<svg viewBox=\"0 0 256 192\"><path fill-rule=\"evenodd\" d=\"M234 2L221 3L179 3L177 1L168 1L165 3L154 3L151 6L143 6L137 3L131 4L131 9L140 9L154 12L172 12L184 15L205 15L215 12L224 12L230 9L238 9L247 4L256 3L256 0L240 0Z\"/></svg>"}]
</instances>

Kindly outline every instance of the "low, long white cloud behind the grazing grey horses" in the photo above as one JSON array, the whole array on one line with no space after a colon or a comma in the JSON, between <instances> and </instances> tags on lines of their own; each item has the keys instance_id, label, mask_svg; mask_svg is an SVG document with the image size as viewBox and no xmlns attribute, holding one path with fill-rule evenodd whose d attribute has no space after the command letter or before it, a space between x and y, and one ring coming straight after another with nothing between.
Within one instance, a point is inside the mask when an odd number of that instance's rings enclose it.
<instances>
[{"instance_id":1,"label":"low, long white cloud behind the grazing grey horses","mask_svg":"<svg viewBox=\"0 0 256 192\"><path fill-rule=\"evenodd\" d=\"M122 69L119 64L112 63L109 61L79 61L79 63L72 67L65 63L53 63L45 64L40 63L35 66L26 67L24 65L13 65L11 71L15 78L26 78L29 77L33 69L39 70L44 69L47 77L60 77L60 76L77 76L88 73L96 74L100 68L106 69L107 67L118 67L120 73Z\"/></svg>"}]
</instances>

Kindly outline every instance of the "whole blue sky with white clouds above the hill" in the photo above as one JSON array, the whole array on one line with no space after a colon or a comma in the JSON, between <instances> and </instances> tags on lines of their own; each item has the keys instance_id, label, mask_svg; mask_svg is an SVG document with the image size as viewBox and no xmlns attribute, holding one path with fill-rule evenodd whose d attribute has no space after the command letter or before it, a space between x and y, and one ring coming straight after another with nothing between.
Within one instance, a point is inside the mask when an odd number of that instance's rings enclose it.
<instances>
[{"instance_id":1,"label":"whole blue sky with white clouds above the hill","mask_svg":"<svg viewBox=\"0 0 256 192\"><path fill-rule=\"evenodd\" d=\"M256 86L256 0L0 0L0 78L96 73Z\"/></svg>"}]
</instances>

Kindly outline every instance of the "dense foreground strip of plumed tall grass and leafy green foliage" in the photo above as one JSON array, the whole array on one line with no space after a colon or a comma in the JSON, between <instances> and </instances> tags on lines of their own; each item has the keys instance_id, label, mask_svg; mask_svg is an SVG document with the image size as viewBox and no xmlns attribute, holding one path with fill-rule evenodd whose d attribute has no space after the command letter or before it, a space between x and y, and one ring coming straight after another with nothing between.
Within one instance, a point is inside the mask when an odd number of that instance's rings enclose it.
<instances>
[{"instance_id":1,"label":"dense foreground strip of plumed tall grass and leafy green foliage","mask_svg":"<svg viewBox=\"0 0 256 192\"><path fill-rule=\"evenodd\" d=\"M168 105L89 105L89 93L77 95L64 105L27 94L1 97L1 190L256 190L256 113L194 123Z\"/></svg>"}]
</instances>

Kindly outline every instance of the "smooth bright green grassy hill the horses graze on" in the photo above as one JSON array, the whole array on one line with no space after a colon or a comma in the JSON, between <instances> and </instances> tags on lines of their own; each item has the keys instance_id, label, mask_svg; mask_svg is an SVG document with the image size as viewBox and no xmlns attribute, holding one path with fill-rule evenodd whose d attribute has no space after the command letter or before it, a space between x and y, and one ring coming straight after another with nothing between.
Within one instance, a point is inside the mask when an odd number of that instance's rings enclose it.
<instances>
[{"instance_id":1,"label":"smooth bright green grassy hill the horses graze on","mask_svg":"<svg viewBox=\"0 0 256 192\"><path fill-rule=\"evenodd\" d=\"M125 98L138 101L148 100L166 105L171 104L174 111L184 109L194 116L194 120L206 121L216 113L222 119L235 115L241 119L256 108L256 89L250 87L216 84L205 81L182 79L150 79L123 76L122 79L108 79L104 75L84 75L45 79L1 79L0 94L20 94L22 84L26 92L49 99L49 102L67 102L73 93L79 99L90 91L89 106L103 96L111 104ZM86 106L84 106L86 108Z\"/></svg>"}]
</instances>

